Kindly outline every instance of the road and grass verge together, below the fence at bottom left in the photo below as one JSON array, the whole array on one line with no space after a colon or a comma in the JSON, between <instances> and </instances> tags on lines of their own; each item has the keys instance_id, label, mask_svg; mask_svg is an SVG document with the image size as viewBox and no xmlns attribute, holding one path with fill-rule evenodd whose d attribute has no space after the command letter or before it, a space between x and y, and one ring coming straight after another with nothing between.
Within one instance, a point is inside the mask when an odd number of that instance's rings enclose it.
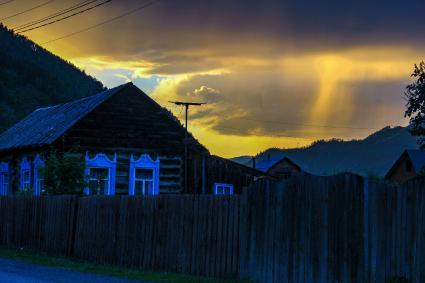
<instances>
[{"instance_id":1,"label":"road and grass verge together, below the fence at bottom left","mask_svg":"<svg viewBox=\"0 0 425 283\"><path fill-rule=\"evenodd\" d=\"M251 283L93 264L23 248L0 246L0 283Z\"/></svg>"}]
</instances>

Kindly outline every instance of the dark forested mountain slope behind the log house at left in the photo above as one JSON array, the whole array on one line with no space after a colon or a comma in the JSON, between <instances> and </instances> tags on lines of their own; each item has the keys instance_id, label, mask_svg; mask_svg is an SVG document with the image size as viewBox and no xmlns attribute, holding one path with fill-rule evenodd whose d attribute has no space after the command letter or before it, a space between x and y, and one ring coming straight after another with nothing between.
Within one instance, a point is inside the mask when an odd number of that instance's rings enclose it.
<instances>
[{"instance_id":1,"label":"dark forested mountain slope behind the log house at left","mask_svg":"<svg viewBox=\"0 0 425 283\"><path fill-rule=\"evenodd\" d=\"M100 92L74 65L0 24L0 132L45 105Z\"/></svg>"}]
</instances>

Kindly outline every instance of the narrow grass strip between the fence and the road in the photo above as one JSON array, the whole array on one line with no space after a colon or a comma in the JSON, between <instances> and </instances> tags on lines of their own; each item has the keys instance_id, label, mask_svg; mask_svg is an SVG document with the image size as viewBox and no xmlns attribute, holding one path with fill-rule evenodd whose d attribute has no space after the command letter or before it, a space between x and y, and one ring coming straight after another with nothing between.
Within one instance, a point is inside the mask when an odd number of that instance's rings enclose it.
<instances>
[{"instance_id":1,"label":"narrow grass strip between the fence and the road","mask_svg":"<svg viewBox=\"0 0 425 283\"><path fill-rule=\"evenodd\" d=\"M42 252L11 249L0 247L0 258L26 261L34 264L46 265L51 267L60 267L66 270L89 272L102 275L115 276L131 280L141 280L160 283L249 283L246 280L232 279L212 279L198 276L144 272L137 269L129 269L114 265L93 264L86 261L69 259L65 257L51 256Z\"/></svg>"}]
</instances>

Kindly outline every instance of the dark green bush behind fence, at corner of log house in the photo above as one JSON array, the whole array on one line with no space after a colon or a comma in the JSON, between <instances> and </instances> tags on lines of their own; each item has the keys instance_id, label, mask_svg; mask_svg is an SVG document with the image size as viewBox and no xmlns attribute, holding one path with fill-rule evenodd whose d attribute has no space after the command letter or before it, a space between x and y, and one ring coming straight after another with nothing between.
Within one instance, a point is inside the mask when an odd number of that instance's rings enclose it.
<instances>
[{"instance_id":1,"label":"dark green bush behind fence, at corner of log house","mask_svg":"<svg viewBox=\"0 0 425 283\"><path fill-rule=\"evenodd\" d=\"M45 161L44 193L47 195L82 195L85 187L85 164L80 156L53 152Z\"/></svg>"}]
</instances>

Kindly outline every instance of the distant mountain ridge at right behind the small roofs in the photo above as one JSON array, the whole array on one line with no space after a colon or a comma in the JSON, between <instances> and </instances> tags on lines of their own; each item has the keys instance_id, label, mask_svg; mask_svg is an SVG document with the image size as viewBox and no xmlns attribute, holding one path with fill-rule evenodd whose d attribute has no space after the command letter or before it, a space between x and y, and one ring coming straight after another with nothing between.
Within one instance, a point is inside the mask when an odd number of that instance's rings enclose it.
<instances>
[{"instance_id":1,"label":"distant mountain ridge at right behind the small roofs","mask_svg":"<svg viewBox=\"0 0 425 283\"><path fill-rule=\"evenodd\" d=\"M419 148L415 137L403 127L386 127L363 140L317 141L299 149L271 148L260 153L258 163L272 165L283 156L298 163L305 171L330 175L353 172L383 176L406 148ZM234 161L252 166L252 157L241 156Z\"/></svg>"}]
</instances>

